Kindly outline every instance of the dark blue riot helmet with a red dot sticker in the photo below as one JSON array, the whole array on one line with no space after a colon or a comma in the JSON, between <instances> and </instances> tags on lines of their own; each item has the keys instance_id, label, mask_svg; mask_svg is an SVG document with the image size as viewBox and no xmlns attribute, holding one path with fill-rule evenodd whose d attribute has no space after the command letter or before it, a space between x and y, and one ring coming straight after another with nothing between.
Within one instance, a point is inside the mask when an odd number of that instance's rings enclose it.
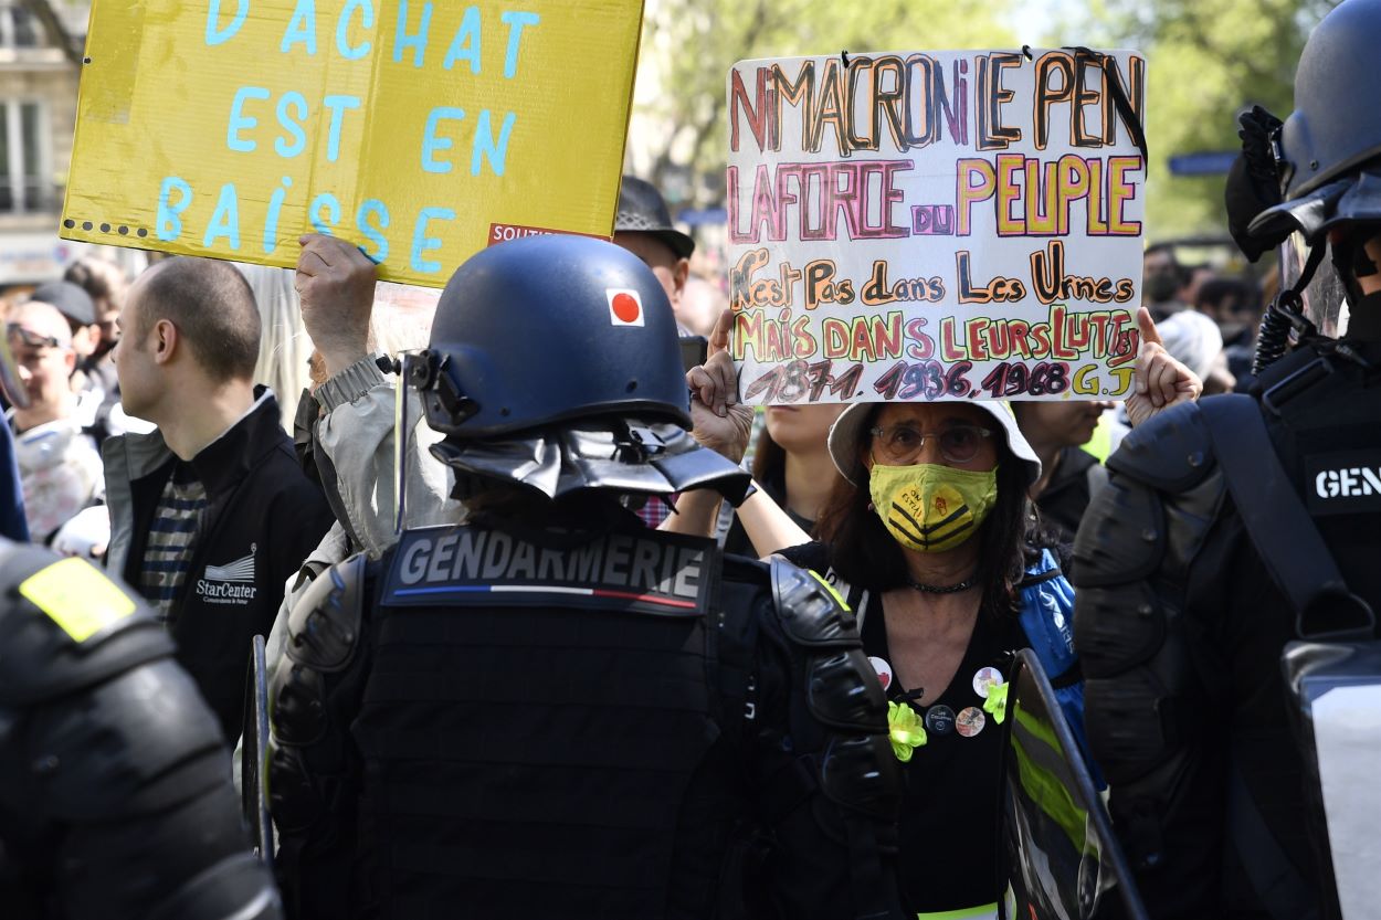
<instances>
[{"instance_id":1,"label":"dark blue riot helmet with a red dot sticker","mask_svg":"<svg viewBox=\"0 0 1381 920\"><path fill-rule=\"evenodd\" d=\"M409 366L427 423L453 441L595 416L690 427L666 291L598 239L530 236L467 260Z\"/></svg>"}]
</instances>

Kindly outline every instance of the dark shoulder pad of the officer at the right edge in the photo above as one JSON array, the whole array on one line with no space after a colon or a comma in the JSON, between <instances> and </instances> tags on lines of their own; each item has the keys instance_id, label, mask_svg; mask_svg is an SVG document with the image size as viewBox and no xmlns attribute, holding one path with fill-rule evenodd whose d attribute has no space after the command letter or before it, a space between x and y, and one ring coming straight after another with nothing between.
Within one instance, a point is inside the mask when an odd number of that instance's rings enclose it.
<instances>
[{"instance_id":1,"label":"dark shoulder pad of the officer at the right edge","mask_svg":"<svg viewBox=\"0 0 1381 920\"><path fill-rule=\"evenodd\" d=\"M1108 468L1113 472L1171 495L1199 485L1214 466L1213 443L1195 402L1175 406L1132 428L1108 459Z\"/></svg>"}]
</instances>

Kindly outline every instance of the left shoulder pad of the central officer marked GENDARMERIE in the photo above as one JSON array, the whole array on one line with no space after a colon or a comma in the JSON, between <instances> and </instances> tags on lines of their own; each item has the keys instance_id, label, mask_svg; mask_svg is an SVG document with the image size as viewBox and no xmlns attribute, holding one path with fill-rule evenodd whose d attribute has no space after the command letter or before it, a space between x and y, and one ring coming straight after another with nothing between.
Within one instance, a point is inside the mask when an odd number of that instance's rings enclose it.
<instances>
[{"instance_id":1,"label":"left shoulder pad of the central officer marked GENDARMERIE","mask_svg":"<svg viewBox=\"0 0 1381 920\"><path fill-rule=\"evenodd\" d=\"M356 553L316 576L287 615L287 656L316 671L349 664L359 641L369 557Z\"/></svg>"}]
</instances>

